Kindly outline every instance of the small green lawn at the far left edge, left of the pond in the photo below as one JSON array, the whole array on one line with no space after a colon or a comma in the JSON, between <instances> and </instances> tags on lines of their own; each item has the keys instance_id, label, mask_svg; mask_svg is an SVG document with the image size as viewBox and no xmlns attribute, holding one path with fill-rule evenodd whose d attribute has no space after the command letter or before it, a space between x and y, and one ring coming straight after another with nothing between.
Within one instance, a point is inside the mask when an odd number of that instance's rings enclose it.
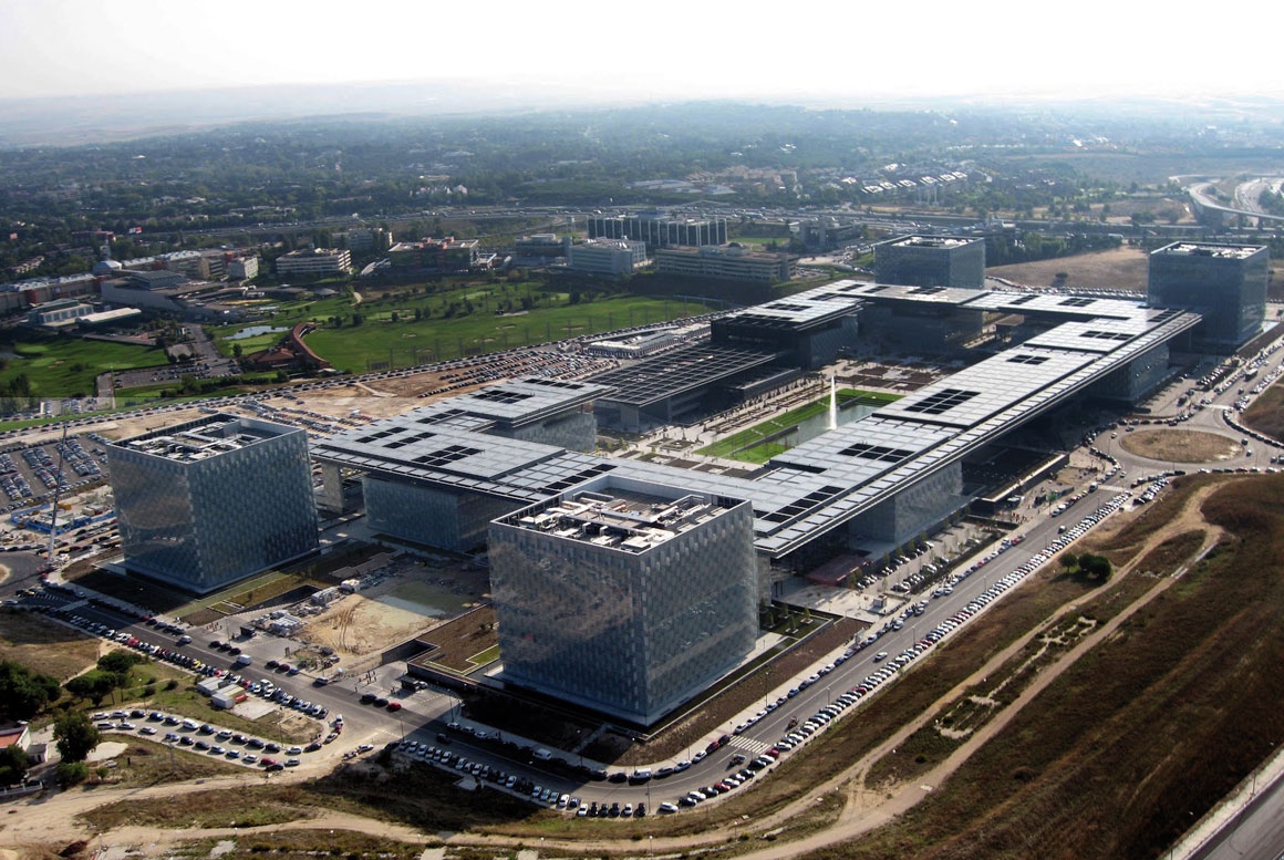
<instances>
[{"instance_id":1,"label":"small green lawn at the far left edge, left of the pond","mask_svg":"<svg viewBox=\"0 0 1284 860\"><path fill-rule=\"evenodd\" d=\"M0 349L18 356L0 370L0 383L26 374L32 394L40 398L90 397L95 393L94 377L103 371L168 365L164 350L155 347L37 331L15 331L14 341L0 344Z\"/></svg>"}]
</instances>

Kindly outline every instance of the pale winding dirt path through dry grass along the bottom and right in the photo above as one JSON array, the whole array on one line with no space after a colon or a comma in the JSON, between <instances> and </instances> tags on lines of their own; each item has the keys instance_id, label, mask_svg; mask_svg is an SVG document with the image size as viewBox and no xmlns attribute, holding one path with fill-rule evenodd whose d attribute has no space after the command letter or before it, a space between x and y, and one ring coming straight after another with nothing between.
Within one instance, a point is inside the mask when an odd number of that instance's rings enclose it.
<instances>
[{"instance_id":1,"label":"pale winding dirt path through dry grass along the bottom and right","mask_svg":"<svg viewBox=\"0 0 1284 860\"><path fill-rule=\"evenodd\" d=\"M1203 544L1199 551L1192 556L1198 558L1202 553L1207 552L1213 547L1217 540L1222 538L1222 529L1213 526L1203 520L1199 513L1199 508L1203 501L1212 494L1215 490L1220 489L1221 484L1210 484L1208 486L1201 488L1192 494L1188 499L1185 507L1181 512L1172 520L1166 522L1162 528L1156 530L1147 540L1143 543L1141 548L1136 552L1132 561L1122 567L1115 578L1117 581L1120 578L1131 575L1134 572L1135 565L1145 558L1147 553L1158 547L1161 543L1184 531L1190 531L1193 529L1203 529L1206 533ZM799 854L811 851L815 848L832 846L838 842L845 842L864 833L873 830L883 824L892 821L898 815L905 813L912 806L914 806L919 800L922 800L928 792L931 792L936 786L944 783L955 770L958 770L984 743L998 734L1000 730L1007 728L1013 716L1021 711L1027 703L1034 701L1040 692L1043 692L1050 683L1057 680L1062 673L1064 673L1070 666L1072 666L1080 657L1082 657L1089 649L1099 644L1102 641L1111 637L1121 624L1130 619L1135 612L1145 607L1152 599L1162 594L1171 584L1176 581L1175 576L1167 576L1154 588L1149 589L1140 599L1135 601L1132 605L1126 607L1118 615L1116 615L1111 621L1102 625L1099 629L1094 630L1089 635L1085 635L1079 644L1071 648L1068 652L1062 655L1055 662L1044 667L1037 679L1027 687L1017 700L1007 709L1000 711L991 719L986 725L984 725L978 732L976 732L967 742L964 742L958 750L955 750L945 761L933 768L930 773L923 775L921 779L915 779L912 784L901 784L889 793L885 789L873 791L864 786L864 777L869 768L881 760L883 756L895 750L900 743L904 743L914 732L921 729L928 721L935 719L945 707L948 707L954 700L957 700L968 687L976 685L984 678L994 674L1003 666L1004 662L1011 660L1014 655L1019 653L1035 637L1041 635L1049 625L1057 624L1059 620L1066 617L1071 612L1077 612L1079 606L1085 601L1090 599L1093 596L1099 593L1100 589L1094 590L1089 594L1081 596L1073 601L1061 607L1052 616L1045 619L1035 629L1030 630L1025 635L1019 637L1017 641L1011 643L1003 651L996 653L984 666L977 669L967 679L957 684L948 693L941 696L933 705L910 720L904 727L901 727L896 733L883 741L878 747L869 751L867 755L862 756L860 760L851 764L849 768L842 770L840 774L832 777L824 783L817 786L806 795L796 798L786 807L763 819L754 821L755 832L767 832L779 827L787 827L788 821L796 818L799 814L804 813L806 809L813 806L817 800L822 796L833 792L844 792L845 806L837 819L837 821L811 836L808 836L799 841L782 842L779 845L772 845L760 851L754 851L746 855L740 855L743 857L752 857L755 860L785 860L792 859ZM815 755L811 751L811 755ZM304 774L299 774L304 777ZM155 786L150 788L134 788L134 789L119 789L119 791L83 791L83 792L69 792L63 795L55 795L48 801L33 801L26 806L21 806L21 815L10 818L4 821L5 827L0 830L0 845L31 845L31 843L44 843L48 842L50 834L59 834L59 838L72 839L72 838L85 838L90 836L85 828L73 824L72 819L81 813L90 809L100 806L103 804L114 802L118 800L128 798L146 798L146 797L163 797L163 796L177 796L181 793L195 792L195 791L209 791L214 788L231 788L247 784L245 777L226 777L218 779L204 779L194 783L185 784L168 784L168 786ZM416 830L397 825L388 824L384 821L377 821L374 819L367 819L362 816L343 814L343 813L321 813L315 818L306 820L275 824L263 828L223 828L223 829L189 829L189 830L173 830L164 828L140 828L140 827L126 827L109 833L103 834L103 838L109 843L122 845L140 845L148 846L144 852L146 855L154 856L157 854L164 854L160 846L172 846L177 842L193 838L207 838L207 837L227 837L235 834L250 834L254 832L276 832L282 829L351 829L362 833L370 833L375 836L386 836L388 838L401 839L411 843L422 843L425 837ZM681 838L657 838L654 842L648 841L648 851L690 851L697 846L707 846L724 842L728 836L732 836L733 830L729 827L718 828L696 837L681 837ZM493 846L511 848L517 843L529 842L528 838L520 837L498 837L498 836L482 836L482 834L457 834L447 839L451 845L461 846ZM641 854L641 848L637 842L628 841L562 841L562 839L548 839L548 848L577 851L577 852L593 852L603 851L621 855Z\"/></svg>"}]
</instances>

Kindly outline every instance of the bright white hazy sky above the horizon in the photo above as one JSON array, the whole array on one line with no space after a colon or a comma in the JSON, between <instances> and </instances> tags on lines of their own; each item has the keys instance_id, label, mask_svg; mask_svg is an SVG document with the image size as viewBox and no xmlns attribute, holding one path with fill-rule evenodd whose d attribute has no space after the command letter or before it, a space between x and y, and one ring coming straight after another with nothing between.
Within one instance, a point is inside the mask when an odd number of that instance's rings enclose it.
<instances>
[{"instance_id":1,"label":"bright white hazy sky above the horizon","mask_svg":"<svg viewBox=\"0 0 1284 860\"><path fill-rule=\"evenodd\" d=\"M1281 8L0 0L0 98L421 78L645 99L1284 94Z\"/></svg>"}]
</instances>

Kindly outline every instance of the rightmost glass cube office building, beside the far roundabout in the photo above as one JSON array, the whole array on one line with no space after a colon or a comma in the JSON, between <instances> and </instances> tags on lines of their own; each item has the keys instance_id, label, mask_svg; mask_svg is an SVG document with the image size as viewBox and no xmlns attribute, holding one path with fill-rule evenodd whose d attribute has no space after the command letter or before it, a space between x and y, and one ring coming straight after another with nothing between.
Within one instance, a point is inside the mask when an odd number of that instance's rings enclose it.
<instances>
[{"instance_id":1,"label":"rightmost glass cube office building, beside the far roundabout","mask_svg":"<svg viewBox=\"0 0 1284 860\"><path fill-rule=\"evenodd\" d=\"M1262 330L1269 279L1270 252L1261 245L1176 241L1150 252L1147 299L1198 312L1197 347L1234 352Z\"/></svg>"}]
</instances>

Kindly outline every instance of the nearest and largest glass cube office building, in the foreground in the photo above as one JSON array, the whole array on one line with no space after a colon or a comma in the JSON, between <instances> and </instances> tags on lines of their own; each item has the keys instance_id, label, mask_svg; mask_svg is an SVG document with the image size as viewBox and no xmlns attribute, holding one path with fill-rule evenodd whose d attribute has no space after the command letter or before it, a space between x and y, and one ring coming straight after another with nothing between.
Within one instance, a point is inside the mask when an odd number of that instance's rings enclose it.
<instances>
[{"instance_id":1,"label":"nearest and largest glass cube office building, in the foreground","mask_svg":"<svg viewBox=\"0 0 1284 860\"><path fill-rule=\"evenodd\" d=\"M502 679L648 725L750 652L747 502L610 476L497 520Z\"/></svg>"}]
</instances>

